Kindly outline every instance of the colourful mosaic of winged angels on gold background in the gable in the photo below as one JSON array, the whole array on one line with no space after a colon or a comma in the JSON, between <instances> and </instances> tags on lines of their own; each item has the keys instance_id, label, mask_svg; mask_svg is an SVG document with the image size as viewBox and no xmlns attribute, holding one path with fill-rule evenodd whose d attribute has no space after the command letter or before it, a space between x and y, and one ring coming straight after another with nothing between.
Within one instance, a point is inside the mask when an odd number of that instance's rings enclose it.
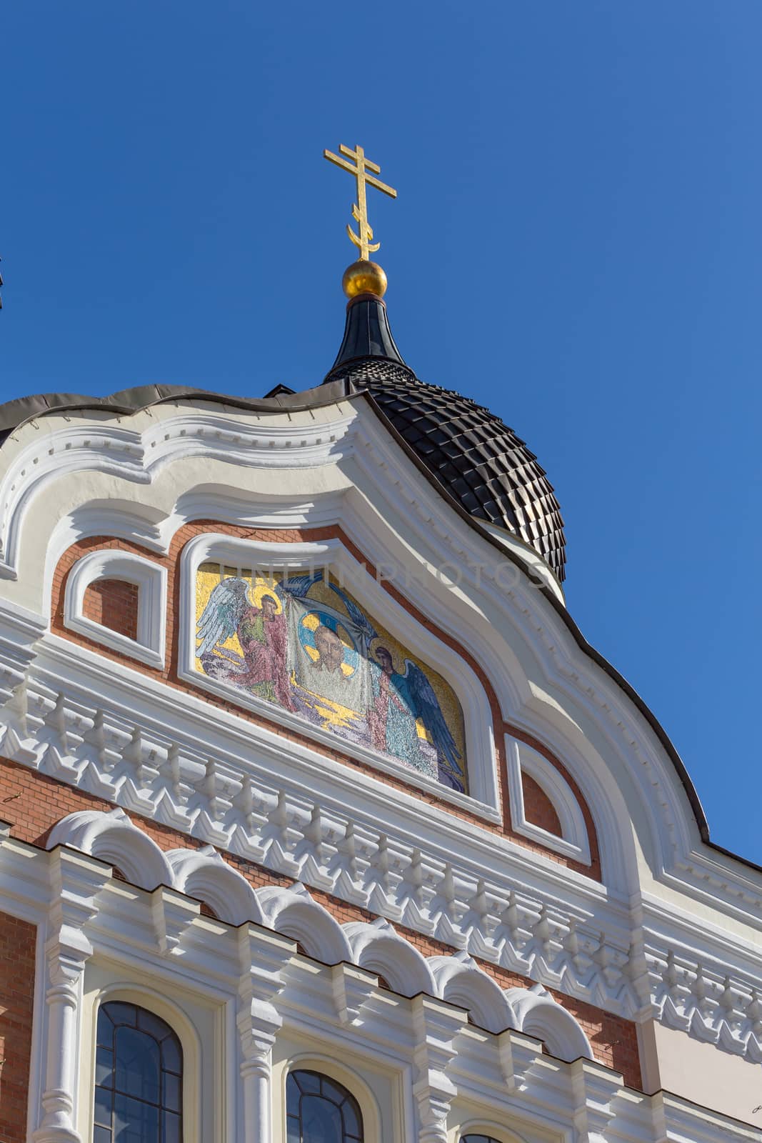
<instances>
[{"instance_id":1,"label":"colourful mosaic of winged angels on gold background in the gable","mask_svg":"<svg viewBox=\"0 0 762 1143\"><path fill-rule=\"evenodd\" d=\"M198 672L467 792L455 692L329 568L263 575L207 561L195 623Z\"/></svg>"}]
</instances>

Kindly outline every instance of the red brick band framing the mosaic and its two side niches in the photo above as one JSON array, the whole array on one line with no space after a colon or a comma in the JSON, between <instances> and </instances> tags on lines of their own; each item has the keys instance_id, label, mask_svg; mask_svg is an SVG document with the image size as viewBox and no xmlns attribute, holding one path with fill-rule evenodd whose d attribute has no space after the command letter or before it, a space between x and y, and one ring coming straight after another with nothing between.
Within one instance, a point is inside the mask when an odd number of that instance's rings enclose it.
<instances>
[{"instance_id":1,"label":"red brick band framing the mosaic and its two side niches","mask_svg":"<svg viewBox=\"0 0 762 1143\"><path fill-rule=\"evenodd\" d=\"M302 541L319 541L319 539L331 539L338 538L342 543L352 552L355 559L362 563L367 569L369 575L376 578L376 568L370 563L362 552L356 547L356 545L342 531L340 528L336 526L324 527L324 528L311 528L311 529L298 529L298 528L282 528L282 529L266 529L266 528L243 528L233 525L218 523L215 520L198 520L193 523L186 523L173 537L169 552L166 557L157 555L155 552L150 552L147 549L141 547L139 544L133 544L128 541L121 541L111 538L107 536L93 536L88 539L80 541L73 544L58 561L58 567L56 568L53 583L53 601L51 601L51 617L50 625L56 634L63 636L65 639L71 639L73 642L85 644L86 646L93 647L99 654L105 655L110 658L117 661L121 660L121 656L115 652L110 650L107 647L102 647L101 645L86 639L82 636L77 634L73 631L69 631L64 626L63 615L64 615L64 593L66 589L66 577L80 557L87 554L90 551L101 550L117 550L117 551L129 551L135 552L138 555L145 557L155 563L163 565L167 568L168 588L167 588L167 655L166 663L167 666L163 671L159 671L151 666L145 666L136 662L129 661L129 665L137 671L144 671L147 674L152 674L162 679L168 686L177 687L181 690L189 692L191 694L198 694L198 689L192 685L178 679L177 677L177 653L178 653L178 622L179 622L179 558L185 544L206 531L217 531L222 535L242 537L247 539L259 539L270 541L278 543L298 543ZM556 862L560 865L564 865L567 869L573 869L579 873L584 873L586 877L592 877L595 880L602 880L601 863L597 849L597 839L595 837L595 826L593 824L593 818L586 806L581 793L579 792L576 784L569 781L569 775L567 774L563 766L558 762L558 760L548 753L545 748L538 746L543 754L551 761L553 766L556 766L559 770L564 775L567 781L575 791L575 794L579 798L583 808L583 814L585 816L585 822L587 824L587 830L589 834L589 848L593 860L589 865L583 865L579 862L573 861L570 857L566 857L562 854L556 854L552 849L546 848L535 841L523 838L521 834L515 833L511 823L510 814L510 798L507 788L507 770L505 766L505 754L503 746L503 733L513 734L515 737L523 738L529 742L530 745L535 745L535 741L530 740L528 736L514 730L510 725L503 724L503 714L495 694L495 688L492 687L487 674L480 666L480 664L468 654L460 645L452 639L447 632L441 631L434 623L431 622L423 613L420 613L416 607L410 604L404 596L391 583L380 578L379 583L382 588L387 591L394 599L400 602L406 610L412 615L427 631L431 631L438 639L440 639L448 647L451 647L465 662L468 663L471 669L474 671L480 682L482 684L484 692L488 696L490 710L492 713L494 727L495 727L495 749L497 753L498 761L498 774L500 778L500 807L503 814L502 825L492 825L490 823L483 822L482 818L478 817L475 814L471 814L466 809L456 808L450 802L442 798L439 798L434 793L428 793L419 790L415 785L410 785L404 782L403 778L392 777L391 775L382 774L372 766L368 766L364 762L360 762L356 759L351 758L345 754L339 746L331 749L323 744L316 743L306 735L300 735L294 733L292 730L287 730L278 724L276 713L273 712L273 718L263 718L259 714L255 714L252 711L248 711L242 706L238 706L232 698L218 698L215 695L206 694L203 695L204 701L209 703L210 706L220 706L225 710L234 710L240 717L248 719L259 726L265 726L289 742L298 742L300 744L310 746L310 749L315 750L329 758L336 759L338 761L345 762L348 766L353 766L356 769L364 770L368 774L379 781L385 782L390 786L395 789L407 790L409 793L415 794L424 802L430 805L436 805L446 809L448 813L456 817L462 817L465 821L473 822L480 825L482 829L504 833L510 837L512 841L522 846L526 849L532 849L536 853L542 853L551 861Z\"/></svg>"}]
</instances>

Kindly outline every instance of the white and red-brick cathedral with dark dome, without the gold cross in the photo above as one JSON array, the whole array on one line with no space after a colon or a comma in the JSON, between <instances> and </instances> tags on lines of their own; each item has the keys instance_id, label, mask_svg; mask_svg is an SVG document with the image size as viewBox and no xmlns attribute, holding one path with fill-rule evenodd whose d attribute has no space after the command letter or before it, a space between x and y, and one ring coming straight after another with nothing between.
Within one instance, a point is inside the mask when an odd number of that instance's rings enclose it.
<instances>
[{"instance_id":1,"label":"white and red-brick cathedral with dark dome, without the gold cross","mask_svg":"<svg viewBox=\"0 0 762 1143\"><path fill-rule=\"evenodd\" d=\"M0 1140L760 1140L762 871L358 265L306 392L0 408Z\"/></svg>"}]
</instances>

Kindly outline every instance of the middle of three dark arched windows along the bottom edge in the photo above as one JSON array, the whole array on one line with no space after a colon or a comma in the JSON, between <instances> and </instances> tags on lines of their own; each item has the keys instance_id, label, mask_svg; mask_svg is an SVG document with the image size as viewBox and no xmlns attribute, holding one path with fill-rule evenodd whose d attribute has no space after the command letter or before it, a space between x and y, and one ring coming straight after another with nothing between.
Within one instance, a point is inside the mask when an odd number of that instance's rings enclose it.
<instances>
[{"instance_id":1,"label":"middle of three dark arched windows along the bottom edge","mask_svg":"<svg viewBox=\"0 0 762 1143\"><path fill-rule=\"evenodd\" d=\"M288 1143L362 1143L362 1116L345 1087L313 1071L286 1081Z\"/></svg>"}]
</instances>

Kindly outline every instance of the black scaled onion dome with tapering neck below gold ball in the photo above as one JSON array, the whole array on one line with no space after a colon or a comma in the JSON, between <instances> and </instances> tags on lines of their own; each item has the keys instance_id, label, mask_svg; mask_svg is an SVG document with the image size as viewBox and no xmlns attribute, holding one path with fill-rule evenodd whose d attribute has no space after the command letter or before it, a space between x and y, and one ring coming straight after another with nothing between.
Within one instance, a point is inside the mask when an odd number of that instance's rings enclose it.
<instances>
[{"instance_id":1,"label":"black scaled onion dome with tapering neck below gold ball","mask_svg":"<svg viewBox=\"0 0 762 1143\"><path fill-rule=\"evenodd\" d=\"M561 509L537 457L489 409L416 377L394 344L380 298L350 302L342 349L326 381L366 390L471 515L520 536L564 578Z\"/></svg>"}]
</instances>

